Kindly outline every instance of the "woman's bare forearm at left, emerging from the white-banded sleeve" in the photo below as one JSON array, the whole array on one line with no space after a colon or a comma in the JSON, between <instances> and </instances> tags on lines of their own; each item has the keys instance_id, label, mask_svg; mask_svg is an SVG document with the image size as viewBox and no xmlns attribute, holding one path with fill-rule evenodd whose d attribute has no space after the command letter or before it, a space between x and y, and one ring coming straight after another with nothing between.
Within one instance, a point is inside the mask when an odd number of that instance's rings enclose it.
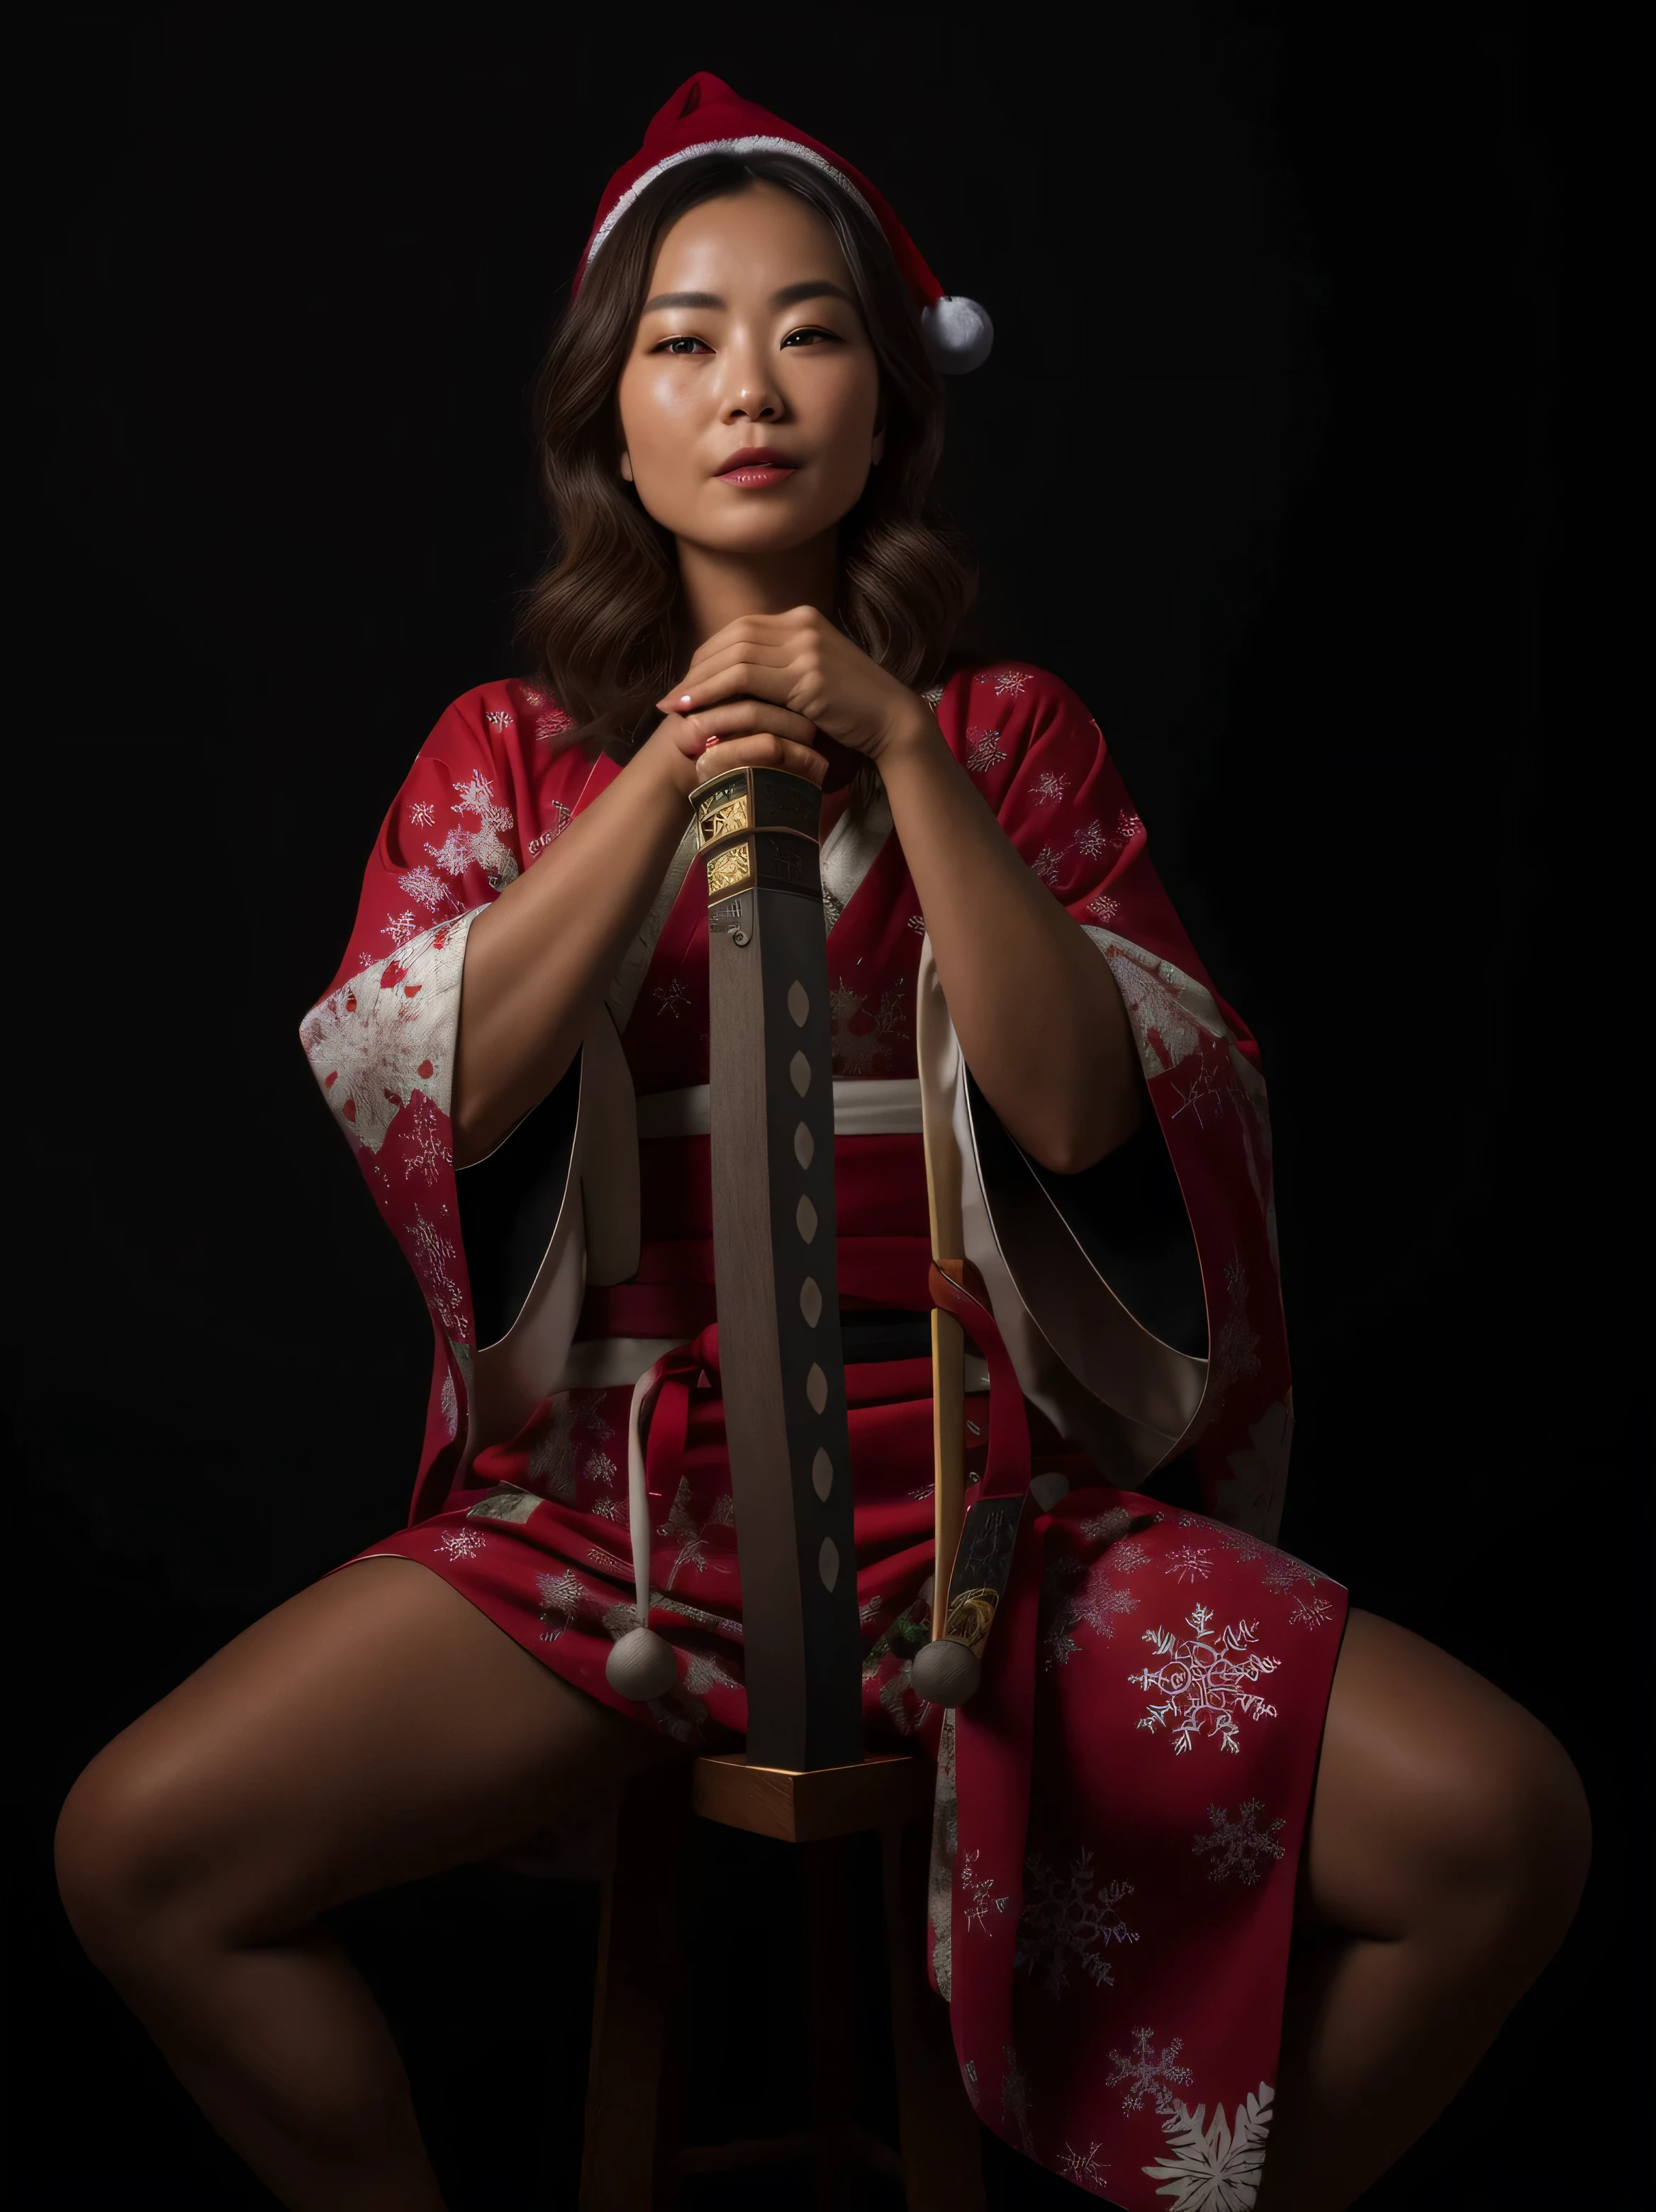
<instances>
[{"instance_id":1,"label":"woman's bare forearm at left, emerging from the white-banded sleeve","mask_svg":"<svg viewBox=\"0 0 1656 2212\"><path fill-rule=\"evenodd\" d=\"M455 1161L482 1159L579 1051L690 821L692 763L661 734L471 925Z\"/></svg>"}]
</instances>

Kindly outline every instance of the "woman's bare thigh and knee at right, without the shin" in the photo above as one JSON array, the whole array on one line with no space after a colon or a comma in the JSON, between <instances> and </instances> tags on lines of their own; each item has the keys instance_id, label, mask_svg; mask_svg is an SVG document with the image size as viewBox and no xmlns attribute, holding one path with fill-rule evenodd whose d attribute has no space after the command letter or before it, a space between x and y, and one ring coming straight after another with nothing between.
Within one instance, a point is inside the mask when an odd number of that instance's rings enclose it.
<instances>
[{"instance_id":1,"label":"woman's bare thigh and knee at right, without the shin","mask_svg":"<svg viewBox=\"0 0 1656 2212\"><path fill-rule=\"evenodd\" d=\"M1550 1900L1563 1924L1585 1867L1581 1781L1541 1721L1435 1644L1353 1608L1329 1692L1302 1918L1400 1938L1435 1913L1506 1918Z\"/></svg>"}]
</instances>

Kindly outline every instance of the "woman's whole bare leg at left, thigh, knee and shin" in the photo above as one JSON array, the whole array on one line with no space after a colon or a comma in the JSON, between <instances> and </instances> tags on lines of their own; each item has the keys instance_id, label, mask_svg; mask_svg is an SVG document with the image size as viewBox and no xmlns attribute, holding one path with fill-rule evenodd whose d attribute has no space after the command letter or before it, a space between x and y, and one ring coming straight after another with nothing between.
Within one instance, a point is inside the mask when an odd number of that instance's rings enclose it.
<instances>
[{"instance_id":1,"label":"woman's whole bare leg at left, thigh, knee and shin","mask_svg":"<svg viewBox=\"0 0 1656 2212\"><path fill-rule=\"evenodd\" d=\"M316 1916L464 1865L672 1756L438 1575L363 1559L228 1644L75 1783L75 1933L298 2212L440 2212L409 2084Z\"/></svg>"}]
</instances>

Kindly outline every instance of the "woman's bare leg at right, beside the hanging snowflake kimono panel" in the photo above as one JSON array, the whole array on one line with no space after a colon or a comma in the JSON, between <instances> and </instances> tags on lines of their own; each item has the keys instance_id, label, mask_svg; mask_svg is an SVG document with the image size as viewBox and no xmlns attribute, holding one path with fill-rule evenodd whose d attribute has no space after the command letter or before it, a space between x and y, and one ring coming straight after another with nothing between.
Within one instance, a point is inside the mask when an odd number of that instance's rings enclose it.
<instances>
[{"instance_id":1,"label":"woman's bare leg at right, beside the hanging snowflake kimono panel","mask_svg":"<svg viewBox=\"0 0 1656 2212\"><path fill-rule=\"evenodd\" d=\"M1260 2212L1338 2212L1444 2110L1587 1874L1559 1743L1457 1659L1353 1613L1329 1699Z\"/></svg>"}]
</instances>

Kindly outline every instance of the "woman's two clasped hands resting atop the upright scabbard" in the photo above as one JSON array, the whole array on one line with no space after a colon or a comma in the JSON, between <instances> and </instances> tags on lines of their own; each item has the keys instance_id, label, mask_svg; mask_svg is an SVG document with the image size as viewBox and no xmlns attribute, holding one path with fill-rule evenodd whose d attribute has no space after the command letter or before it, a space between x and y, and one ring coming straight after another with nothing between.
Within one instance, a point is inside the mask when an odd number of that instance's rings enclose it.
<instances>
[{"instance_id":1,"label":"woman's two clasped hands resting atop the upright scabbard","mask_svg":"<svg viewBox=\"0 0 1656 2212\"><path fill-rule=\"evenodd\" d=\"M787 768L820 785L820 739L878 763L931 723L922 701L814 606L727 624L657 706L696 783L727 768Z\"/></svg>"}]
</instances>

